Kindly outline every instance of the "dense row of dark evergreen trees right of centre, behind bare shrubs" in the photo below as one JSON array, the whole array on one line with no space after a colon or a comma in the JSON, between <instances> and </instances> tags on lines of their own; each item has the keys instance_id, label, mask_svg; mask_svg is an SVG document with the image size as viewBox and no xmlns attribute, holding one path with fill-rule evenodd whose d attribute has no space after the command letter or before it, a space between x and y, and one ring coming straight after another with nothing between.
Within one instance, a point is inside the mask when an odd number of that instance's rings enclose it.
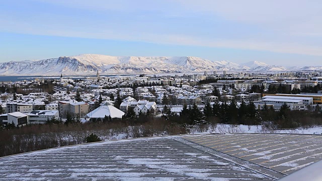
<instances>
[{"instance_id":1,"label":"dense row of dark evergreen trees right of centre, behind bare shrubs","mask_svg":"<svg viewBox=\"0 0 322 181\"><path fill-rule=\"evenodd\" d=\"M266 104L262 109L257 109L253 102L246 104L241 102L239 106L233 100L231 103L215 102L212 106L207 103L203 110L196 105L184 106L180 114L176 114L165 107L166 119L179 125L200 125L223 123L223 124L244 124L263 125L270 123L275 129L309 128L315 125L322 125L322 114L319 107L316 110L291 111L287 104L281 106L280 110L274 110Z\"/></svg>"}]
</instances>

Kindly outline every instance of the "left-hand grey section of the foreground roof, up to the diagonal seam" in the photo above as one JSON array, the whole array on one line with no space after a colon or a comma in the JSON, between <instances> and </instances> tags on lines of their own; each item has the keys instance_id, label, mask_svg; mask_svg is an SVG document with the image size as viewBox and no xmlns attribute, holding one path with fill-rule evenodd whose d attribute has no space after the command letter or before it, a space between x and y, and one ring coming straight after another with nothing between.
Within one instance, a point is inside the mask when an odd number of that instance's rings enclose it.
<instances>
[{"instance_id":1,"label":"left-hand grey section of the foreground roof, up to the diagonal seam","mask_svg":"<svg viewBox=\"0 0 322 181\"><path fill-rule=\"evenodd\" d=\"M0 158L0 180L273 180L284 174L179 136L107 141Z\"/></svg>"}]
</instances>

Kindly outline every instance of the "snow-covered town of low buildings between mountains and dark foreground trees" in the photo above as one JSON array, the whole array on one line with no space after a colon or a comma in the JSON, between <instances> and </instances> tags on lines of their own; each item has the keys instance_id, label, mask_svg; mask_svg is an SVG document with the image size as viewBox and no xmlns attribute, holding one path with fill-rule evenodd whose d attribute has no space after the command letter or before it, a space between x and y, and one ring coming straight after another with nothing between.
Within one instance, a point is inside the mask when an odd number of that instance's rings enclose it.
<instances>
[{"instance_id":1,"label":"snow-covered town of low buildings between mountains and dark foreground trees","mask_svg":"<svg viewBox=\"0 0 322 181\"><path fill-rule=\"evenodd\" d=\"M254 105L257 110L322 110L322 71L183 75L117 75L3 82L3 128L48 121L122 119L128 112L159 117L184 107ZM165 109L166 108L166 109ZM218 107L219 108L219 107ZM205 112L204 112L205 114ZM229 122L229 120L228 120ZM236 123L236 122L234 122Z\"/></svg>"}]
</instances>

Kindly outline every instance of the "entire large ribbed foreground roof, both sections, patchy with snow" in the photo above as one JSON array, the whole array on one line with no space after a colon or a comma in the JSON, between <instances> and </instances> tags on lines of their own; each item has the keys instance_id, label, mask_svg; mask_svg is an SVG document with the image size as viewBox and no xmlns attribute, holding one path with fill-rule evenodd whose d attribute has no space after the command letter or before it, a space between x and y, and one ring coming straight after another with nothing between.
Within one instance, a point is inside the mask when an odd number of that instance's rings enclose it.
<instances>
[{"instance_id":1,"label":"entire large ribbed foreground roof, both sections, patchy with snow","mask_svg":"<svg viewBox=\"0 0 322 181\"><path fill-rule=\"evenodd\" d=\"M322 136L185 135L0 158L0 180L275 180L322 159Z\"/></svg>"}]
</instances>

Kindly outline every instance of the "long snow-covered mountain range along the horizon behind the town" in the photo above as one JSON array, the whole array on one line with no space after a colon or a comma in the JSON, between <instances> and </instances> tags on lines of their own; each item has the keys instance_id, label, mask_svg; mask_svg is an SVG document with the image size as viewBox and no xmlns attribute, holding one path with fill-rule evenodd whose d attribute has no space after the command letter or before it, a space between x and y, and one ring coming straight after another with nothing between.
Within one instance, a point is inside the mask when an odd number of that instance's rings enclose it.
<instances>
[{"instance_id":1,"label":"long snow-covered mountain range along the horizon behind the town","mask_svg":"<svg viewBox=\"0 0 322 181\"><path fill-rule=\"evenodd\" d=\"M301 69L302 67L297 67ZM304 68L304 67L303 67ZM320 68L320 67L316 67ZM314 67L307 67L314 69ZM237 64L230 61L210 61L200 57L134 57L83 54L43 60L0 63L0 75L93 75L123 73L188 73L213 70L284 71L283 66L259 61Z\"/></svg>"}]
</instances>

